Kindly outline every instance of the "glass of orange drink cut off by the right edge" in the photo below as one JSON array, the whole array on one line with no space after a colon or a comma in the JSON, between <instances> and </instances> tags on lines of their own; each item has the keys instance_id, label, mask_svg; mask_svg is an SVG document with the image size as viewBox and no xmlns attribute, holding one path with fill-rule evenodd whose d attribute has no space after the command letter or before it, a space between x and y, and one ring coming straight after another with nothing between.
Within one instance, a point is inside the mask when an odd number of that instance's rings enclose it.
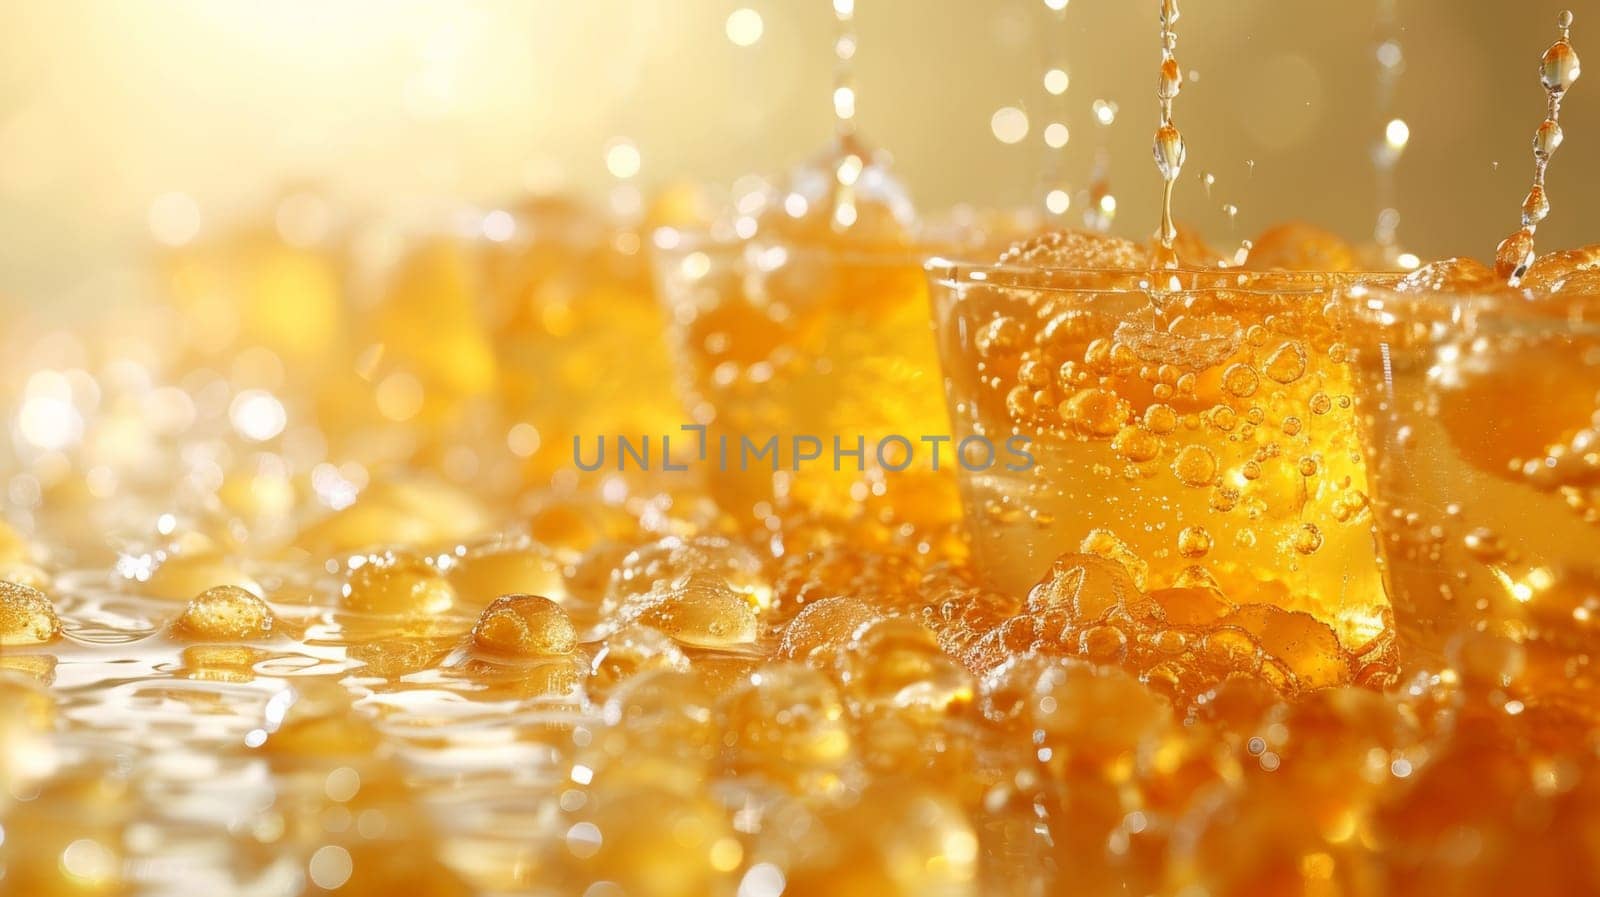
<instances>
[{"instance_id":1,"label":"glass of orange drink cut off by the right edge","mask_svg":"<svg viewBox=\"0 0 1600 897\"><path fill-rule=\"evenodd\" d=\"M1438 672L1490 633L1592 676L1600 291L1357 286L1344 304L1403 664Z\"/></svg>"}]
</instances>

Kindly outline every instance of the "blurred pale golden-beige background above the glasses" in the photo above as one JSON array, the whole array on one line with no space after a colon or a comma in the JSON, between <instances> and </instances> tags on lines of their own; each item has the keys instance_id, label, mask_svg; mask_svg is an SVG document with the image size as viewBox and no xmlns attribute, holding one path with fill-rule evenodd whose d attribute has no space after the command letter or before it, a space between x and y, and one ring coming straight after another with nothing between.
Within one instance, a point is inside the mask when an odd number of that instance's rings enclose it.
<instances>
[{"instance_id":1,"label":"blurred pale golden-beige background above the glasses","mask_svg":"<svg viewBox=\"0 0 1600 897\"><path fill-rule=\"evenodd\" d=\"M1179 219L1221 246L1285 217L1370 240L1387 134L1405 144L1402 248L1491 256L1528 189L1538 59L1562 8L1184 3ZM1149 235L1157 11L859 0L861 134L893 152L925 211L1038 205L1048 153L1074 185L1101 153L1114 230ZM1578 51L1590 27L1600 46L1600 8L1574 11ZM528 192L603 203L621 184L648 201L682 181L776 173L829 139L832 40L827 0L5 3L0 309L114 302L154 246L259 214L286 185L357 216L426 219ZM1059 96L1051 66L1070 75ZM1562 122L1541 248L1595 238L1600 181L1584 163L1600 85L1579 82ZM1059 150L1050 123L1067 128Z\"/></svg>"}]
</instances>

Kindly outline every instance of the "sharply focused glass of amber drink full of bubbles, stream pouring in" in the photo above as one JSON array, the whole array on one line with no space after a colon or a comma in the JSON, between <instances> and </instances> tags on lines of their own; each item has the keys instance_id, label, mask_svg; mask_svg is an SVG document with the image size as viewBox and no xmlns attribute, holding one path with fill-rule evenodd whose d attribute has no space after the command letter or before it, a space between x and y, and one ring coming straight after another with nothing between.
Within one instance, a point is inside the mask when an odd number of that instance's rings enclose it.
<instances>
[{"instance_id":1,"label":"sharply focused glass of amber drink full of bubbles, stream pouring in","mask_svg":"<svg viewBox=\"0 0 1600 897\"><path fill-rule=\"evenodd\" d=\"M1386 635L1331 277L928 275L955 438L1027 446L960 472L990 587L1024 593L1082 552L1146 592L1309 612L1354 654Z\"/></svg>"}]
</instances>

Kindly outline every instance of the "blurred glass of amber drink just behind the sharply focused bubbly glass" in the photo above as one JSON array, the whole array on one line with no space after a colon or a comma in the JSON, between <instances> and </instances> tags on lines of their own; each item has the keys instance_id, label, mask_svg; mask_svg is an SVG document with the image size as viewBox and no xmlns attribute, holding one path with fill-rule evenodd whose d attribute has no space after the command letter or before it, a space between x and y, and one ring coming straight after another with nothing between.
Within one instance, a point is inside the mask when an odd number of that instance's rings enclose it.
<instances>
[{"instance_id":1,"label":"blurred glass of amber drink just behind the sharply focused bubbly glass","mask_svg":"<svg viewBox=\"0 0 1600 897\"><path fill-rule=\"evenodd\" d=\"M747 523L786 508L848 515L885 480L933 473L923 437L949 433L949 417L926 253L680 230L654 243L678 381L706 427L691 460L710 467L726 510Z\"/></svg>"}]
</instances>

